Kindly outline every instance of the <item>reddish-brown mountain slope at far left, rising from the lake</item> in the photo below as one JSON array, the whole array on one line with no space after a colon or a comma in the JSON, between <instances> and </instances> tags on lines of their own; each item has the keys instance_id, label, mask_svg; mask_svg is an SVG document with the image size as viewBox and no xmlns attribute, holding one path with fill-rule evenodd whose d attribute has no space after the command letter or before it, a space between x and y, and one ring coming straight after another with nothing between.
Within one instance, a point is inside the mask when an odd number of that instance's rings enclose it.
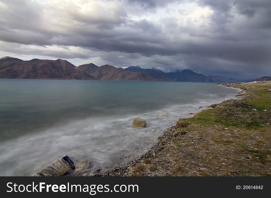
<instances>
[{"instance_id":1,"label":"reddish-brown mountain slope at far left, rising from the lake","mask_svg":"<svg viewBox=\"0 0 271 198\"><path fill-rule=\"evenodd\" d=\"M97 80L85 72L47 60L23 61L17 58L0 60L0 78Z\"/></svg>"}]
</instances>

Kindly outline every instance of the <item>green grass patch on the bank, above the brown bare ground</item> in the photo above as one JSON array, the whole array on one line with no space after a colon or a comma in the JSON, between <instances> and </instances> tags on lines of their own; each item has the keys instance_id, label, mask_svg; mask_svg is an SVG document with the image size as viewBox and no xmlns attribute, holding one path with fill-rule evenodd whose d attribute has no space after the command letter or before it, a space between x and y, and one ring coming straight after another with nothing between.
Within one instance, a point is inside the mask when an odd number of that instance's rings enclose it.
<instances>
[{"instance_id":1,"label":"green grass patch on the bank, above the brown bare ground","mask_svg":"<svg viewBox=\"0 0 271 198\"><path fill-rule=\"evenodd\" d=\"M262 116L264 110L271 110L271 92L267 89L270 89L269 85L255 85L248 91L249 99L231 99L222 104L211 105L213 109L199 112L192 118L180 119L176 126L178 127L180 123L188 123L244 129L269 127L270 115ZM257 111L252 109L257 109Z\"/></svg>"}]
</instances>

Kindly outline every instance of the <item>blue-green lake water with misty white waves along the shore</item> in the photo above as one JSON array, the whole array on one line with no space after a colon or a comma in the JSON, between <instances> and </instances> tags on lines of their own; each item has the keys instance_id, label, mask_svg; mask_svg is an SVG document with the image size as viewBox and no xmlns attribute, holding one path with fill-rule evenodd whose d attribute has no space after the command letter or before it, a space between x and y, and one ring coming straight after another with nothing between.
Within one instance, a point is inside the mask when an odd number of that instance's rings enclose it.
<instances>
[{"instance_id":1,"label":"blue-green lake water with misty white waves along the shore","mask_svg":"<svg viewBox=\"0 0 271 198\"><path fill-rule=\"evenodd\" d=\"M215 83L0 79L0 175L31 175L66 154L93 169L119 166L179 118L236 92ZM132 128L136 117L147 128Z\"/></svg>"}]
</instances>

